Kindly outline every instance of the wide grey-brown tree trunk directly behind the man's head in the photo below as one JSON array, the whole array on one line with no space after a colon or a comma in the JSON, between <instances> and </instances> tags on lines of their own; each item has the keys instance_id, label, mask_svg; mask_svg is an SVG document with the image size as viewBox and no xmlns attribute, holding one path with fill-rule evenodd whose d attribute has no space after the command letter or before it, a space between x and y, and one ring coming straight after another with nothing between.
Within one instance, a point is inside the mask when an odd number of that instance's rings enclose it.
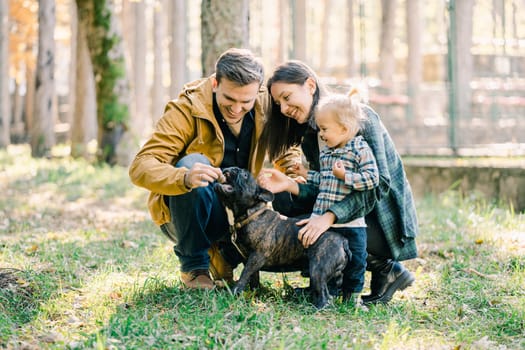
<instances>
[{"instance_id":1,"label":"wide grey-brown tree trunk directly behind the man's head","mask_svg":"<svg viewBox=\"0 0 525 350\"><path fill-rule=\"evenodd\" d=\"M249 1L202 0L201 35L202 73L208 76L224 51L249 47Z\"/></svg>"}]
</instances>

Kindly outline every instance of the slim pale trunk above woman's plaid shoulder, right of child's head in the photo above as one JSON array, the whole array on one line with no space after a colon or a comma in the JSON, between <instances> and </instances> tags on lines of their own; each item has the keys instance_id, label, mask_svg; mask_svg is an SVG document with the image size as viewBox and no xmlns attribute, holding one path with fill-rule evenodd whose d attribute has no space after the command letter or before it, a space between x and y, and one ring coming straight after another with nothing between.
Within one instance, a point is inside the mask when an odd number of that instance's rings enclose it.
<instances>
[{"instance_id":1,"label":"slim pale trunk above woman's plaid shoulder, right of child's head","mask_svg":"<svg viewBox=\"0 0 525 350\"><path fill-rule=\"evenodd\" d=\"M394 35L397 0L381 0L381 41L379 46L379 78L388 93L392 89L392 76L395 71Z\"/></svg>"}]
</instances>

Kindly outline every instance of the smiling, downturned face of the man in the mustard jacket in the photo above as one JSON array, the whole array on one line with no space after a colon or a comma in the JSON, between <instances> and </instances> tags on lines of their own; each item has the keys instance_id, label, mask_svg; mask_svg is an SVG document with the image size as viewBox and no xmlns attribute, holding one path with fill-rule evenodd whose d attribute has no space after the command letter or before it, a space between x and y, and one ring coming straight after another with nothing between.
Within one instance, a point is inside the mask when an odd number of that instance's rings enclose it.
<instances>
[{"instance_id":1,"label":"smiling, downturned face of the man in the mustard jacket","mask_svg":"<svg viewBox=\"0 0 525 350\"><path fill-rule=\"evenodd\" d=\"M229 124L235 124L255 105L259 83L239 85L226 78L214 80L213 92L222 117Z\"/></svg>"}]
</instances>

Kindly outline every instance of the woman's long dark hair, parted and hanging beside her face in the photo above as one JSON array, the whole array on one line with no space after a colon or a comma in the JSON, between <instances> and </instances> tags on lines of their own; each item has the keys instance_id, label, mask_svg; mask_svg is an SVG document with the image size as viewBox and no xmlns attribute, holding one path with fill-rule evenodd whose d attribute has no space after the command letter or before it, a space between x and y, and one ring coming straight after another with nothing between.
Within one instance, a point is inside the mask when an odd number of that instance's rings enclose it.
<instances>
[{"instance_id":1,"label":"woman's long dark hair, parted and hanging beside her face","mask_svg":"<svg viewBox=\"0 0 525 350\"><path fill-rule=\"evenodd\" d=\"M275 103L270 92L272 84L274 83L280 82L303 85L308 78L315 81L316 87L313 94L312 105L310 106L308 122L299 124L294 119L288 118L281 113L280 106ZM277 66L272 76L268 79L266 86L270 94L271 107L267 115L264 132L261 135L260 144L268 150L270 161L273 161L291 146L301 144L301 139L308 125L313 120L315 106L319 102L321 95L325 94L325 88L310 67L296 60L290 60Z\"/></svg>"}]
</instances>

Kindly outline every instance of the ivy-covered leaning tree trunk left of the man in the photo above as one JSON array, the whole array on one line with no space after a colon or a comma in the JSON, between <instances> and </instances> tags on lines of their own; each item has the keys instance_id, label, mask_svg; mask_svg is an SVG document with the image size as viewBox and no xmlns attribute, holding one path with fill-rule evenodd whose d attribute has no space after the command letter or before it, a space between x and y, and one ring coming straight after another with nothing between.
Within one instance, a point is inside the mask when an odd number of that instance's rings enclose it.
<instances>
[{"instance_id":1,"label":"ivy-covered leaning tree trunk left of the man","mask_svg":"<svg viewBox=\"0 0 525 350\"><path fill-rule=\"evenodd\" d=\"M117 146L128 129L130 92L124 45L111 0L77 0L85 26L97 96L98 158L116 164ZM127 162L118 161L119 164Z\"/></svg>"}]
</instances>

